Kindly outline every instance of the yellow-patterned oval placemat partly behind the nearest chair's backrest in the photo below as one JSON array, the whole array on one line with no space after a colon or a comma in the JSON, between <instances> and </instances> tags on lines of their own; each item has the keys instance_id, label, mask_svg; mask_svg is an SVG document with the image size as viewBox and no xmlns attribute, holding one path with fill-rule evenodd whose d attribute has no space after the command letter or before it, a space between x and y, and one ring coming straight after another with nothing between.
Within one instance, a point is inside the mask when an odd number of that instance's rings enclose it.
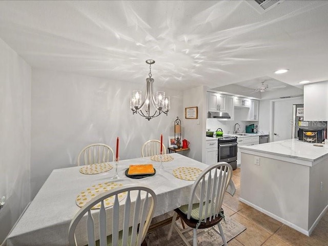
<instances>
[{"instance_id":1,"label":"yellow-patterned oval placemat partly behind the nearest chair's backrest","mask_svg":"<svg viewBox=\"0 0 328 246\"><path fill-rule=\"evenodd\" d=\"M98 183L97 185L94 185L85 191L81 191L77 197L76 197L76 205L78 207L83 207L88 201L90 201L95 196L99 195L100 193L103 193L105 191L109 191L111 189L117 188L122 186L121 183L115 183L115 182L106 182L106 183ZM124 199L127 195L127 192L123 192L118 195L119 201ZM114 205L114 196L108 197L104 200L105 208L111 207ZM101 203L97 203L95 206L92 207L92 209L100 209Z\"/></svg>"}]
</instances>

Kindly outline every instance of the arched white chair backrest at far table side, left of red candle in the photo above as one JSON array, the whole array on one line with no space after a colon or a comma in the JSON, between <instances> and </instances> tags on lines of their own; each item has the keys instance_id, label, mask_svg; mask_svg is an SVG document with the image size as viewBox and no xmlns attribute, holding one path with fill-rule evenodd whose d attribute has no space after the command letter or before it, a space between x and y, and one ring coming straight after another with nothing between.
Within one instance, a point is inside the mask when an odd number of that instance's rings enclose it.
<instances>
[{"instance_id":1,"label":"arched white chair backrest at far table side, left of red candle","mask_svg":"<svg viewBox=\"0 0 328 246\"><path fill-rule=\"evenodd\" d=\"M77 166L114 161L113 149L105 144L92 144L85 147L77 156Z\"/></svg>"}]
</instances>

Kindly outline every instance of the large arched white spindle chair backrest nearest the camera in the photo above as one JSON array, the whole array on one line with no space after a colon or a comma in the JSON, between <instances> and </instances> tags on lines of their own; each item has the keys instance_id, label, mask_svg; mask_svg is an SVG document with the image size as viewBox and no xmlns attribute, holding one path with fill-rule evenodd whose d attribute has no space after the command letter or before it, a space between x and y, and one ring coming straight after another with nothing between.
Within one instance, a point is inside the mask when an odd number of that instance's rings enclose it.
<instances>
[{"instance_id":1,"label":"large arched white spindle chair backrest nearest the camera","mask_svg":"<svg viewBox=\"0 0 328 246\"><path fill-rule=\"evenodd\" d=\"M119 202L119 197L123 192L127 193L126 198ZM112 209L105 209L104 200L111 196L114 196L113 207ZM133 197L135 197L135 199ZM97 210L99 212L91 213L91 208L99 202L101 202L100 209ZM121 203L121 205L124 204L120 209L119 203ZM80 219L87 214L86 227L89 246L95 245L95 240L98 238L100 246L107 245L107 240L110 241L110 239L111 245L113 246L140 246L149 229L155 207L156 195L154 191L147 186L126 185L101 193L86 203L85 206L75 214L68 232L69 245L77 245L75 229ZM110 211L112 213L110 213ZM111 218L112 230L107 227L107 222L109 221L107 221L106 217ZM119 218L123 218L123 220ZM94 219L99 221L99 223L94 223ZM119 230L119 221L123 221L121 223L121 231ZM108 235L111 236L108 237ZM121 244L119 244L118 241L121 241Z\"/></svg>"}]
</instances>

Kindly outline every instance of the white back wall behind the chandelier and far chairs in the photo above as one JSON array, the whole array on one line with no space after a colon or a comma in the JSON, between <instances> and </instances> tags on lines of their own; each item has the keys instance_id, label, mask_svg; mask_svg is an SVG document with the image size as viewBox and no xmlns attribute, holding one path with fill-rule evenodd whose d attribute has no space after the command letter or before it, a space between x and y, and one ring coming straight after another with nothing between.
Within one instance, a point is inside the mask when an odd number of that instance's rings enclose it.
<instances>
[{"instance_id":1,"label":"white back wall behind the chandelier and far chairs","mask_svg":"<svg viewBox=\"0 0 328 246\"><path fill-rule=\"evenodd\" d=\"M146 77L144 88L131 81L122 86L120 81L33 69L32 198L53 169L76 166L79 151L89 144L103 142L115 150L118 136L120 159L140 157L144 142L159 139L160 134L168 146L168 136L174 135L173 122L183 116L182 94L163 89L171 97L169 115L148 121L132 115L129 106L132 90L145 93ZM154 92L160 89L155 84Z\"/></svg>"}]
</instances>

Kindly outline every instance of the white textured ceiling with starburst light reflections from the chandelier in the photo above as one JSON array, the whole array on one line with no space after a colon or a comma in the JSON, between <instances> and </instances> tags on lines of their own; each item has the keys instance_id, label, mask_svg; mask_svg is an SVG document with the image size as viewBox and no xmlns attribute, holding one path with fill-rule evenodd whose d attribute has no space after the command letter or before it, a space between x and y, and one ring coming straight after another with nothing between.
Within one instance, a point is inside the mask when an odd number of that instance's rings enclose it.
<instances>
[{"instance_id":1,"label":"white textured ceiling with starburst light reflections from the chandelier","mask_svg":"<svg viewBox=\"0 0 328 246\"><path fill-rule=\"evenodd\" d=\"M144 85L151 58L155 88L297 86L328 79L327 13L328 1L263 14L245 1L0 1L0 38L32 67L121 83Z\"/></svg>"}]
</instances>

